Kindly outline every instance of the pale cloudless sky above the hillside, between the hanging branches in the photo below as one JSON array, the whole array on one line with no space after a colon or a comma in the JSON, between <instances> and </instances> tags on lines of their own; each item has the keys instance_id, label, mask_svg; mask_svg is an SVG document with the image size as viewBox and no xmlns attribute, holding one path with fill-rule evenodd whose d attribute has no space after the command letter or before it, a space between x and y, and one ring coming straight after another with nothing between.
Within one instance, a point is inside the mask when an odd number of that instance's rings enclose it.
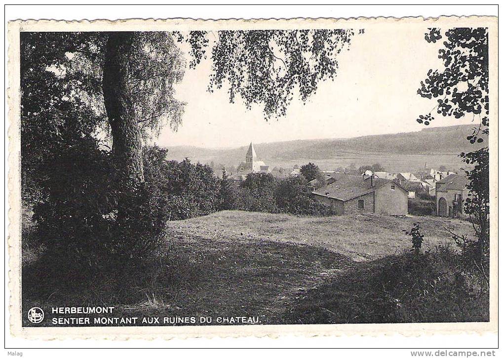
<instances>
[{"instance_id":1,"label":"pale cloudless sky above the hillside, between the hanging branches","mask_svg":"<svg viewBox=\"0 0 503 358\"><path fill-rule=\"evenodd\" d=\"M418 131L415 119L436 104L417 95L430 68L441 68L439 43L425 40L427 29L406 26L365 29L339 57L335 80L319 84L304 105L294 97L287 115L266 121L260 107L246 110L227 90L206 91L211 61L187 68L176 98L187 103L178 131L164 127L158 145L203 148L239 147L294 139L347 138ZM435 113L436 114L436 113ZM430 126L469 124L471 118L435 116Z\"/></svg>"}]
</instances>

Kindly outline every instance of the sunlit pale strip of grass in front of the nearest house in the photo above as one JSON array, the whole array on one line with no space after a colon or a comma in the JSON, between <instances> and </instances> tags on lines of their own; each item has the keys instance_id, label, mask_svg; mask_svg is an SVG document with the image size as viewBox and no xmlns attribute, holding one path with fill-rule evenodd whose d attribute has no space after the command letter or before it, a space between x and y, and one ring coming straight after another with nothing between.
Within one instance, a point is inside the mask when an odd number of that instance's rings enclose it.
<instances>
[{"instance_id":1,"label":"sunlit pale strip of grass in front of the nearest house","mask_svg":"<svg viewBox=\"0 0 503 358\"><path fill-rule=\"evenodd\" d=\"M264 212L220 211L206 217L171 222L170 230L201 235L210 240L244 236L244 239L302 244L341 253L354 261L376 259L410 248L402 230L420 223L423 247L452 242L444 229L472 235L467 222L439 217L405 218L382 215L296 217Z\"/></svg>"}]
</instances>

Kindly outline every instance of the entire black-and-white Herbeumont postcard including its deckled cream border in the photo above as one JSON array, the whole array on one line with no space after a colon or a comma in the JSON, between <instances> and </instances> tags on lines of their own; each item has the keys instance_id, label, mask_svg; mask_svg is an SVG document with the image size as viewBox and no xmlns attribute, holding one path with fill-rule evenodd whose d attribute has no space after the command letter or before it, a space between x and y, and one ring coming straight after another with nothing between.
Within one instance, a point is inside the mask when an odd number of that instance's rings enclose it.
<instances>
[{"instance_id":1,"label":"entire black-and-white Herbeumont postcard including its deckled cream border","mask_svg":"<svg viewBox=\"0 0 503 358\"><path fill-rule=\"evenodd\" d=\"M495 332L497 51L494 17L11 22L11 333Z\"/></svg>"}]
</instances>

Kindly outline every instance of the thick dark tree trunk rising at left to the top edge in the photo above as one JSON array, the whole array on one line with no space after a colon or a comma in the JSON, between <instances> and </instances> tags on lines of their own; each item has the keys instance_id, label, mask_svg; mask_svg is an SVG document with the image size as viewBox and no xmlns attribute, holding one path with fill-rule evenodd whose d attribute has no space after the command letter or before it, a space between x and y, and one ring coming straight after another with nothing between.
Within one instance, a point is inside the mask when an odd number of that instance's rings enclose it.
<instances>
[{"instance_id":1,"label":"thick dark tree trunk rising at left to the top edge","mask_svg":"<svg viewBox=\"0 0 503 358\"><path fill-rule=\"evenodd\" d=\"M103 63L103 96L112 127L112 151L122 166L124 184L131 187L143 181L141 134L127 84L133 36L133 32L110 32Z\"/></svg>"}]
</instances>

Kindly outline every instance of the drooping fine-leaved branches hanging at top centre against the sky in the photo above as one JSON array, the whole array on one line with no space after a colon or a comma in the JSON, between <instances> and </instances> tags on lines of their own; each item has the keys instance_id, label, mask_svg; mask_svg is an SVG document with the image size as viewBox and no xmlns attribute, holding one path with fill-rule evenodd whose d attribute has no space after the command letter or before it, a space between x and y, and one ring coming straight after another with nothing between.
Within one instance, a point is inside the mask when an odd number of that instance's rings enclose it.
<instances>
[{"instance_id":1,"label":"drooping fine-leaved branches hanging at top centre against the sky","mask_svg":"<svg viewBox=\"0 0 503 358\"><path fill-rule=\"evenodd\" d=\"M268 120L286 114L295 91L305 103L320 82L337 76L337 57L349 49L354 31L251 30L212 35L208 91L228 86L231 103L239 96L247 109L259 105ZM207 33L177 33L176 38L190 44L191 67L206 58Z\"/></svg>"}]
</instances>

